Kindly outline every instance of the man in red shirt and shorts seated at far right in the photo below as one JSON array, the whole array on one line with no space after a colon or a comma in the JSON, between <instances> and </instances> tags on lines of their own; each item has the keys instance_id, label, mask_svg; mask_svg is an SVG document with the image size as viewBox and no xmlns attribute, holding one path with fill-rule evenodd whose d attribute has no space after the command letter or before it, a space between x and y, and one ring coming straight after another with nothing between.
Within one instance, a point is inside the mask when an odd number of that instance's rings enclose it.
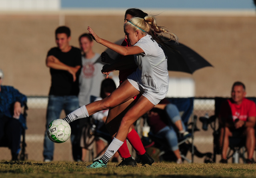
<instances>
[{"instance_id":1,"label":"man in red shirt and shorts seated at far right","mask_svg":"<svg viewBox=\"0 0 256 178\"><path fill-rule=\"evenodd\" d=\"M231 98L222 103L219 114L221 163L227 163L229 137L245 136L248 159L253 163L255 148L254 126L256 122L256 106L253 101L245 98L245 85L235 82L232 86Z\"/></svg>"}]
</instances>

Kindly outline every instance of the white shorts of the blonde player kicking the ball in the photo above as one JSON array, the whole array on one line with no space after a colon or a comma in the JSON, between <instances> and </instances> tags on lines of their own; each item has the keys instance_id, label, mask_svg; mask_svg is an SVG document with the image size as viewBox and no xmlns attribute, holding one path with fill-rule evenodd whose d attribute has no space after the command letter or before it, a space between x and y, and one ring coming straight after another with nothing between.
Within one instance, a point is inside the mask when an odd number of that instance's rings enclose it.
<instances>
[{"instance_id":1,"label":"white shorts of the blonde player kicking the ball","mask_svg":"<svg viewBox=\"0 0 256 178\"><path fill-rule=\"evenodd\" d=\"M157 105L162 99L165 98L168 86L166 88L162 88L158 93L151 91L150 89L146 88L143 89L142 86L138 84L138 82L134 81L133 79L127 78L127 80L136 88L142 96L146 97L153 105Z\"/></svg>"}]
</instances>

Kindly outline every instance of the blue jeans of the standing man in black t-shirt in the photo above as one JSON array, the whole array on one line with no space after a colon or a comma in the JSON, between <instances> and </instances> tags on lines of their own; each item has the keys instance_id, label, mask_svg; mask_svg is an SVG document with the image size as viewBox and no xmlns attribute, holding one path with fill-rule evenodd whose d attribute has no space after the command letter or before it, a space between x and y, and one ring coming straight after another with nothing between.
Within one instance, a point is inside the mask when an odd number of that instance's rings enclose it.
<instances>
[{"instance_id":1,"label":"blue jeans of the standing man in black t-shirt","mask_svg":"<svg viewBox=\"0 0 256 178\"><path fill-rule=\"evenodd\" d=\"M55 96L50 95L48 97L48 106L46 113L46 130L48 125L54 119L60 119L60 113L64 109L66 115L79 108L79 102L77 96ZM82 148L80 147L80 136L78 131L79 122L78 120L70 123L71 127L71 143L72 143L72 154L75 161L81 160ZM52 142L45 131L44 134L44 160L53 160L54 142Z\"/></svg>"}]
</instances>

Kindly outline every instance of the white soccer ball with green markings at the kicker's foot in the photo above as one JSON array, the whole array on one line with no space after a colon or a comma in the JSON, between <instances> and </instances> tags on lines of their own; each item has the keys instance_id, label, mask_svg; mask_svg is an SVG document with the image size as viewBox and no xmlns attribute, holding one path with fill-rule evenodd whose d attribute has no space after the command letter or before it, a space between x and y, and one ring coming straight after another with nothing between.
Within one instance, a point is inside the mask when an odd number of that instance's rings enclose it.
<instances>
[{"instance_id":1,"label":"white soccer ball with green markings at the kicker's foot","mask_svg":"<svg viewBox=\"0 0 256 178\"><path fill-rule=\"evenodd\" d=\"M55 119L47 127L47 136L55 143L66 142L70 134L70 125L63 119Z\"/></svg>"}]
</instances>

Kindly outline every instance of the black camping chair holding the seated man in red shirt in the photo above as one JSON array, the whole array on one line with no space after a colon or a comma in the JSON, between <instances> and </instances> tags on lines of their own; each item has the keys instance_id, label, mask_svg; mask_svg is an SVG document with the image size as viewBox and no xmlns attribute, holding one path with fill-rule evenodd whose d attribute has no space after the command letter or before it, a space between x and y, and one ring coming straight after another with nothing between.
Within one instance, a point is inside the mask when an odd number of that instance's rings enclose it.
<instances>
[{"instance_id":1,"label":"black camping chair holding the seated man in red shirt","mask_svg":"<svg viewBox=\"0 0 256 178\"><path fill-rule=\"evenodd\" d=\"M219 143L219 137L220 137L220 128L218 127L218 115L220 113L220 107L221 104L226 101L228 98L224 97L215 97L215 111L214 115L211 116L210 118L206 117L200 117L200 121L203 123L203 130L208 129L208 125L213 130L213 157L212 160L205 160L205 162L216 162L216 155L221 154L220 150L220 143ZM247 99L250 99L256 103L256 98L255 97L248 97ZM205 127L204 127L205 126ZM239 163L239 158L245 162L245 139L244 136L241 137L230 137L229 138L229 149L227 153L227 159L232 158L232 163Z\"/></svg>"}]
</instances>

